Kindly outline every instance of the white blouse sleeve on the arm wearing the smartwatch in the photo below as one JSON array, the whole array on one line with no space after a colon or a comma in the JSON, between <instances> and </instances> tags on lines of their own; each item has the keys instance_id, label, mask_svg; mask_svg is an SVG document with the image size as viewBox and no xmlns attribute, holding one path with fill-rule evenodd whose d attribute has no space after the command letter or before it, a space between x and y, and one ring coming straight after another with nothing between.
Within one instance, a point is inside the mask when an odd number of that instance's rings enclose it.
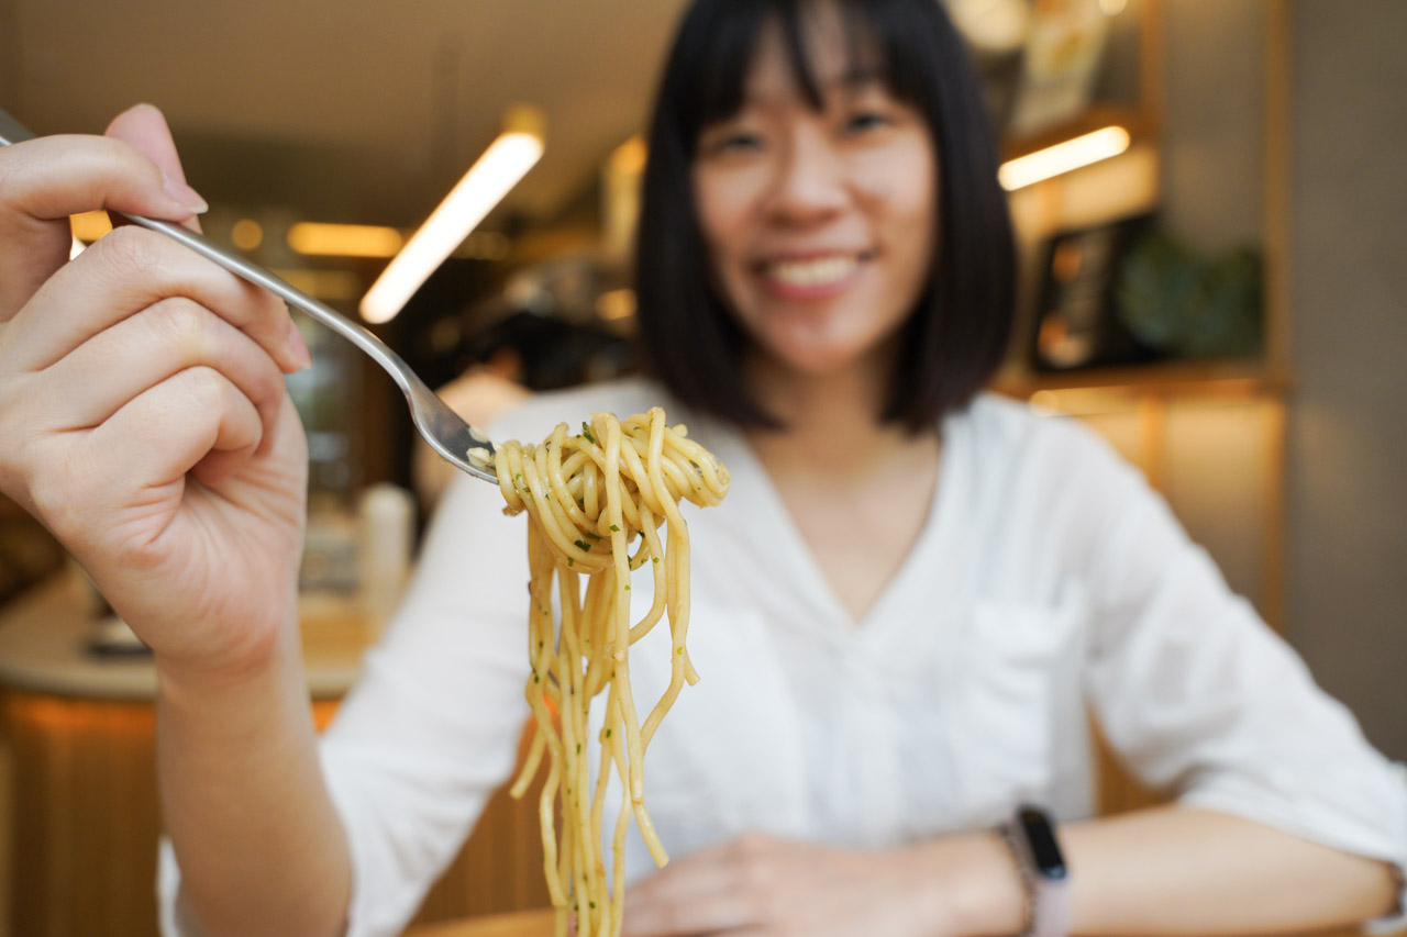
<instances>
[{"instance_id":1,"label":"white blouse sleeve on the arm wearing the smartwatch","mask_svg":"<svg viewBox=\"0 0 1407 937\"><path fill-rule=\"evenodd\" d=\"M1088 692L1121 761L1180 803L1407 868L1407 772L1120 464L1092 557ZM1110 502L1106 502L1110 504ZM1407 893L1399 895L1400 924Z\"/></svg>"}]
</instances>

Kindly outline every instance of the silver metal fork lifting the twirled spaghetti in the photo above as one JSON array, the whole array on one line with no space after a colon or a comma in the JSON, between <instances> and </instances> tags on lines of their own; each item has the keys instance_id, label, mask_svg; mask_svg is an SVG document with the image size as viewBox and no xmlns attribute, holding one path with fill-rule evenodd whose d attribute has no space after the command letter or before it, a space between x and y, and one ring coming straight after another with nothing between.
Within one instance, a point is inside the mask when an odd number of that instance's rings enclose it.
<instances>
[{"instance_id":1,"label":"silver metal fork lifting the twirled spaghetti","mask_svg":"<svg viewBox=\"0 0 1407 937\"><path fill-rule=\"evenodd\" d=\"M35 135L25 129L17 120L0 110L0 146L21 144L27 139L34 139L34 136ZM386 369L386 373L391 376L391 380L395 381L397 387L404 391L405 401L411 407L411 419L415 422L415 429L418 429L421 436L425 438L425 442L428 442L435 452L456 467L463 468L476 478L498 484L498 476L494 474L491 466L494 457L494 443L488 440L488 436L477 426L466 423L460 419L459 414L436 397L435 391L426 387L419 374L412 371L411 366L401 360L400 355L387 348L387 345L371 332L333 311L331 307L318 302L303 290L298 290L286 280L269 273L259 264L229 253L194 231L189 231L169 221L156 221L141 215L129 215L122 211L113 214L121 215L122 218L127 218L128 221L151 231L163 234L173 241L179 241L203 257L214 260L235 276L243 277L255 286L263 287L265 290L281 297L288 305L303 310L314 319L370 355L371 360Z\"/></svg>"}]
</instances>

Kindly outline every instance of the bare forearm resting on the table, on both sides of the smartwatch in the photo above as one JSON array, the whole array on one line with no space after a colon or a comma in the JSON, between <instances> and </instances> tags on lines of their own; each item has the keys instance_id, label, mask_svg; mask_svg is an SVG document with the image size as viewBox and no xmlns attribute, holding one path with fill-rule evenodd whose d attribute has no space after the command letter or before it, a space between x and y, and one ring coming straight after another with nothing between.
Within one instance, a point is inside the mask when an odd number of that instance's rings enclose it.
<instances>
[{"instance_id":1,"label":"bare forearm resting on the table, on both sides of the smartwatch","mask_svg":"<svg viewBox=\"0 0 1407 937\"><path fill-rule=\"evenodd\" d=\"M1072 934L1325 930L1383 916L1397 900L1383 862L1209 810L1165 806L1067 823L1059 840ZM910 868L948 885L926 909L948 933L1020 931L1024 893L995 833L912 847Z\"/></svg>"}]
</instances>

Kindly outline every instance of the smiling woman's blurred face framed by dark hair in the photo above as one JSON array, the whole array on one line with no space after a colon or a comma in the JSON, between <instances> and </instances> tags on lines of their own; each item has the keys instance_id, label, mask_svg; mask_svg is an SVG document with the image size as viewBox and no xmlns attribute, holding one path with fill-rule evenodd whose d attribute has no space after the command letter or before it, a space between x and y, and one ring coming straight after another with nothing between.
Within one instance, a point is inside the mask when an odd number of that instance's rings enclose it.
<instances>
[{"instance_id":1,"label":"smiling woman's blurred face framed by dark hair","mask_svg":"<svg viewBox=\"0 0 1407 937\"><path fill-rule=\"evenodd\" d=\"M816 377L886 366L937 238L937 152L922 114L851 73L840 17L822 10L808 32L822 108L770 28L741 110L704 129L694 162L725 302L767 357Z\"/></svg>"}]
</instances>

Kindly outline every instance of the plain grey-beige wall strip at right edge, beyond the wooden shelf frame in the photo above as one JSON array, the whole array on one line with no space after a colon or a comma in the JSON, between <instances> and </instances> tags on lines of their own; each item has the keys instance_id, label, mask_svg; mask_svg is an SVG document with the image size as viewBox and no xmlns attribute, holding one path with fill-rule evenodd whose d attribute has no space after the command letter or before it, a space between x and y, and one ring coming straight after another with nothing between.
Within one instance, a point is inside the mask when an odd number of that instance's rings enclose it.
<instances>
[{"instance_id":1,"label":"plain grey-beige wall strip at right edge, beyond the wooden shelf frame","mask_svg":"<svg viewBox=\"0 0 1407 937\"><path fill-rule=\"evenodd\" d=\"M1407 3L1293 4L1290 636L1407 760Z\"/></svg>"}]
</instances>

